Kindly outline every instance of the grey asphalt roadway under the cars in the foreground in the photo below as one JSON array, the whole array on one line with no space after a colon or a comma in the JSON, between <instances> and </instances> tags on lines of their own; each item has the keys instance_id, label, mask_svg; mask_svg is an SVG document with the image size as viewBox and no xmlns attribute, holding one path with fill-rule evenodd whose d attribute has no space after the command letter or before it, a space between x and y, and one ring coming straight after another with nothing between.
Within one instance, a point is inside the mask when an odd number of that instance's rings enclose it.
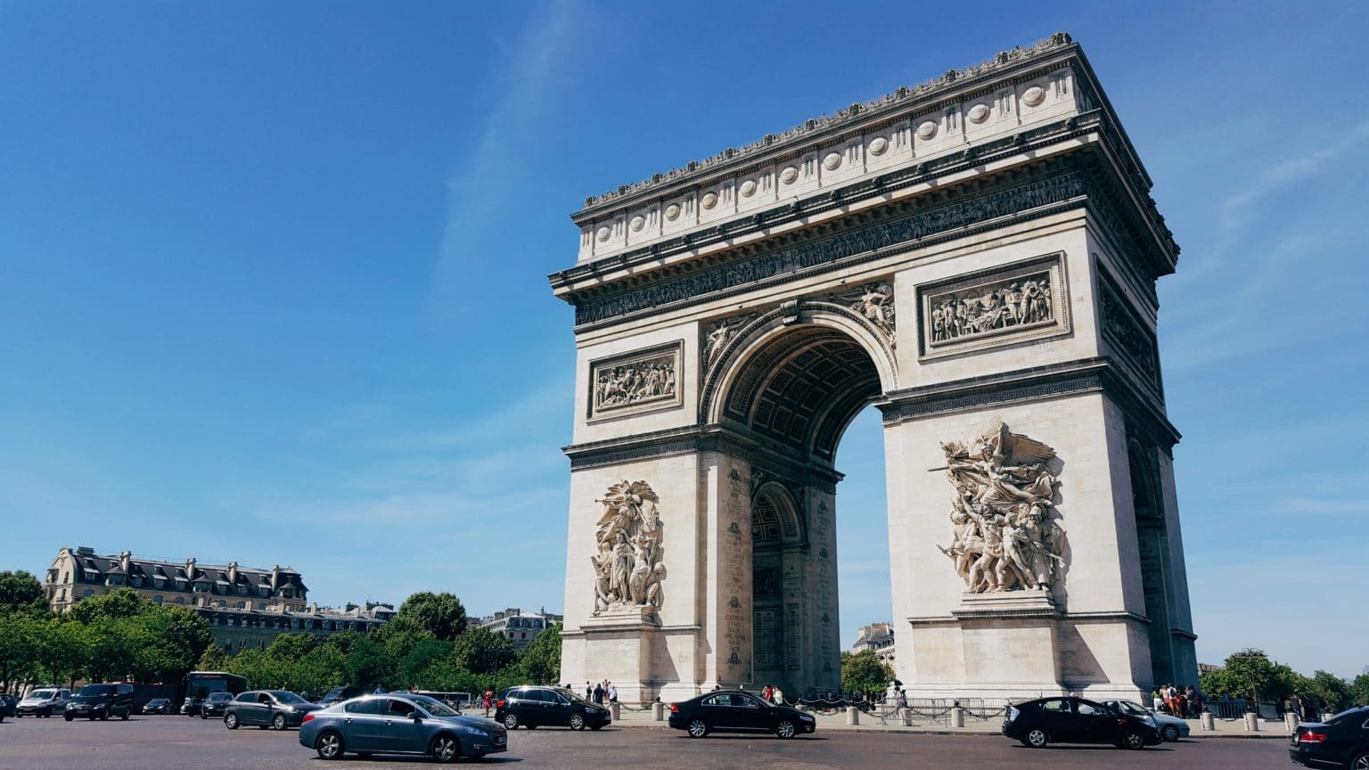
<instances>
[{"instance_id":1,"label":"grey asphalt roadway under the cars in the foreground","mask_svg":"<svg viewBox=\"0 0 1369 770\"><path fill-rule=\"evenodd\" d=\"M773 736L709 736L693 740L668 728L611 726L572 733L542 728L515 730L509 751L457 767L509 770L615 767L648 770L784 770L912 767L1290 767L1285 740L1194 738L1144 751L1112 747L1024 748L1002 736L891 734L819 729L793 740ZM216 719L134 717L127 722L5 719L0 723L0 770L350 770L433 767L426 758L348 755L324 762L298 744L294 730L238 729Z\"/></svg>"}]
</instances>

